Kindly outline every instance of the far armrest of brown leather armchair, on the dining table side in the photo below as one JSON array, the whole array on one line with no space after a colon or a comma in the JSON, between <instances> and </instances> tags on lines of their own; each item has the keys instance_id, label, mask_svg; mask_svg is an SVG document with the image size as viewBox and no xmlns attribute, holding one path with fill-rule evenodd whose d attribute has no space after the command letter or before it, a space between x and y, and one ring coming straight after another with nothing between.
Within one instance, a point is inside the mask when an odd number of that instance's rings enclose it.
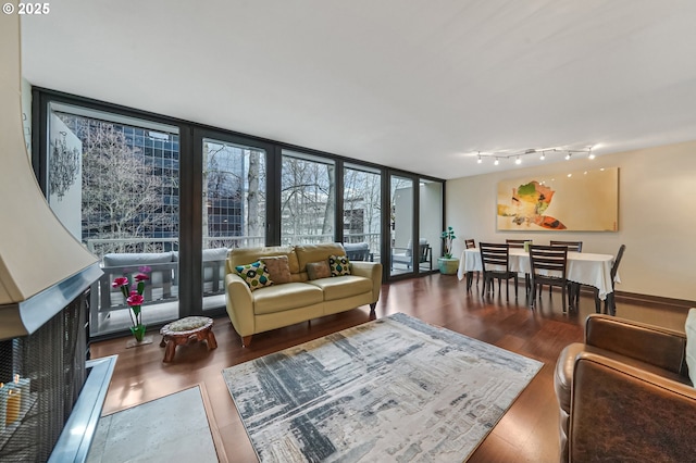
<instances>
[{"instance_id":1,"label":"far armrest of brown leather armchair, on the dining table side","mask_svg":"<svg viewBox=\"0 0 696 463\"><path fill-rule=\"evenodd\" d=\"M686 375L686 335L645 323L592 314L585 322L585 343L673 373Z\"/></svg>"}]
</instances>

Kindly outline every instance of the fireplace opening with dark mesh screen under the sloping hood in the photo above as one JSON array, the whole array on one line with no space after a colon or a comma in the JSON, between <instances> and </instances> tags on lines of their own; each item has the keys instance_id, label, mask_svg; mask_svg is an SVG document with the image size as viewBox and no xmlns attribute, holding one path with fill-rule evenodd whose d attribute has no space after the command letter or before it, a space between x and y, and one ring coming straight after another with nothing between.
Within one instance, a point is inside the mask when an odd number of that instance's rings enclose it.
<instances>
[{"instance_id":1,"label":"fireplace opening with dark mesh screen under the sloping hood","mask_svg":"<svg viewBox=\"0 0 696 463\"><path fill-rule=\"evenodd\" d=\"M0 341L0 461L47 462L62 439L89 375L87 301L83 293L30 335Z\"/></svg>"}]
</instances>

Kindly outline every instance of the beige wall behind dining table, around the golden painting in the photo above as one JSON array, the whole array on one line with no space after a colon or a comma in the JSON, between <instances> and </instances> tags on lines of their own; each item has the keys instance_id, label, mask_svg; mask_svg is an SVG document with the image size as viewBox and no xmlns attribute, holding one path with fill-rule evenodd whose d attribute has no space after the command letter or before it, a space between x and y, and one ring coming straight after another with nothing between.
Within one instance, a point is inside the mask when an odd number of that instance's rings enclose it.
<instances>
[{"instance_id":1,"label":"beige wall behind dining table, around the golden painting","mask_svg":"<svg viewBox=\"0 0 696 463\"><path fill-rule=\"evenodd\" d=\"M500 179L619 167L619 232L497 232ZM585 252L616 254L626 245L617 290L696 301L696 141L572 160L447 182L447 224L459 255L464 238L504 241L530 236L582 240Z\"/></svg>"}]
</instances>

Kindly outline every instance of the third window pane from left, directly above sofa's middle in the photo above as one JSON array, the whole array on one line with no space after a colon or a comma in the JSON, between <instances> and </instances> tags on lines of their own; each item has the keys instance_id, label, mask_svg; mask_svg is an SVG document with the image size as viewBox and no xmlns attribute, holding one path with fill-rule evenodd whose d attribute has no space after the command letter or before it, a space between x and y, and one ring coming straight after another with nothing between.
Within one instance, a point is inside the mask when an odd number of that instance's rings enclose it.
<instances>
[{"instance_id":1,"label":"third window pane from left, directly above sofa's middle","mask_svg":"<svg viewBox=\"0 0 696 463\"><path fill-rule=\"evenodd\" d=\"M336 167L333 160L283 150L281 242L334 241Z\"/></svg>"}]
</instances>

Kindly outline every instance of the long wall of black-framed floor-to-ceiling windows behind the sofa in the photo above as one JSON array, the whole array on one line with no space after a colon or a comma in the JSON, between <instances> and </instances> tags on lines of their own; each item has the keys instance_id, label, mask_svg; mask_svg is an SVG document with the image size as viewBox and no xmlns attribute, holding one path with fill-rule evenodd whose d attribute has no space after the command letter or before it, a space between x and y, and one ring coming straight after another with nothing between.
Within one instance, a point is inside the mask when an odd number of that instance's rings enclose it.
<instances>
[{"instance_id":1,"label":"long wall of black-framed floor-to-ceiling windows behind the sofa","mask_svg":"<svg viewBox=\"0 0 696 463\"><path fill-rule=\"evenodd\" d=\"M223 314L224 262L235 248L340 241L357 259L382 262L387 277L428 272L437 221L430 209L442 214L442 204L426 201L423 185L442 191L442 180L52 90L33 93L39 184L105 273L91 291L92 337L127 333L130 312L111 281L141 267L150 275L142 310L150 329Z\"/></svg>"}]
</instances>

